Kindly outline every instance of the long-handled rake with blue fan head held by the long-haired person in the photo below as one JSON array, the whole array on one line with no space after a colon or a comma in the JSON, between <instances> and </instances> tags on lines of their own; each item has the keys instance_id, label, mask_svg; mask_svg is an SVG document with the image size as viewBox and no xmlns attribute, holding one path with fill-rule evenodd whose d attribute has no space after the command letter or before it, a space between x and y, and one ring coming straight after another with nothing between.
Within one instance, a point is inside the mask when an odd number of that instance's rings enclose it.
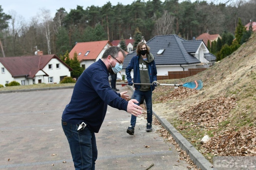
<instances>
[{"instance_id":1,"label":"long-handled rake with blue fan head held by the long-haired person","mask_svg":"<svg viewBox=\"0 0 256 170\"><path fill-rule=\"evenodd\" d=\"M128 85L128 83L117 83L121 84L122 86ZM138 84L138 85L153 85L153 83L133 83L133 84ZM202 80L195 80L193 82L187 82L184 84L158 84L158 85L164 85L164 86L182 86L182 87L187 87L187 88L192 88L196 90L200 90L203 88L203 82Z\"/></svg>"}]
</instances>

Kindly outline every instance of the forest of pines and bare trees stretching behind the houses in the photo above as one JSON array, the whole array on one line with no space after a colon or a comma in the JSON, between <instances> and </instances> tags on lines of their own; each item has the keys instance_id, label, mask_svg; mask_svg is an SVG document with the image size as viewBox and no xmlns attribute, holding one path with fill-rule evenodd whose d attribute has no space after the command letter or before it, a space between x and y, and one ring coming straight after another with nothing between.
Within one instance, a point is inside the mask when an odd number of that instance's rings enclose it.
<instances>
[{"instance_id":1,"label":"forest of pines and bare trees stretching behind the houses","mask_svg":"<svg viewBox=\"0 0 256 170\"><path fill-rule=\"evenodd\" d=\"M235 35L239 19L245 25L256 20L256 0L229 0L232 3L206 1L137 0L130 5L77 6L66 12L41 9L26 23L13 14L3 13L0 5L0 57L46 54L65 55L77 42L120 40L134 37L139 30L148 41L156 35L177 34L191 40L209 34Z\"/></svg>"}]
</instances>

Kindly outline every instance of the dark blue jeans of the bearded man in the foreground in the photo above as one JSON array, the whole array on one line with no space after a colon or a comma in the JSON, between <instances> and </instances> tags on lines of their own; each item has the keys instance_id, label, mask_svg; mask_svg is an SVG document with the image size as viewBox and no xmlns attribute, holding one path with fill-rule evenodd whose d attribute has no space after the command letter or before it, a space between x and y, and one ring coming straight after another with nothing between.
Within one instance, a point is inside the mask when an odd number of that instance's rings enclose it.
<instances>
[{"instance_id":1,"label":"dark blue jeans of the bearded man in the foreground","mask_svg":"<svg viewBox=\"0 0 256 170\"><path fill-rule=\"evenodd\" d=\"M94 132L88 127L77 131L79 125L63 122L62 128L68 139L76 170L95 170L98 151Z\"/></svg>"}]
</instances>

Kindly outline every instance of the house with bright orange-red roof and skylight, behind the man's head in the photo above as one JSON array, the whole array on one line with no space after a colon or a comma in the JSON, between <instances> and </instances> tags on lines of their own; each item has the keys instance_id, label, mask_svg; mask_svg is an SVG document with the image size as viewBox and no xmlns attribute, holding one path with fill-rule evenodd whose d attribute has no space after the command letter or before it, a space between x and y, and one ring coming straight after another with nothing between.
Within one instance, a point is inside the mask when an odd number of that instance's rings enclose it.
<instances>
[{"instance_id":1,"label":"house with bright orange-red roof and skylight, behind the man's head","mask_svg":"<svg viewBox=\"0 0 256 170\"><path fill-rule=\"evenodd\" d=\"M113 46L109 40L94 41L94 42L80 42L76 43L75 47L70 51L69 56L74 58L74 54L77 54L77 58L80 61L80 66L83 69L89 67L92 63L95 63L100 58L104 51Z\"/></svg>"}]
</instances>

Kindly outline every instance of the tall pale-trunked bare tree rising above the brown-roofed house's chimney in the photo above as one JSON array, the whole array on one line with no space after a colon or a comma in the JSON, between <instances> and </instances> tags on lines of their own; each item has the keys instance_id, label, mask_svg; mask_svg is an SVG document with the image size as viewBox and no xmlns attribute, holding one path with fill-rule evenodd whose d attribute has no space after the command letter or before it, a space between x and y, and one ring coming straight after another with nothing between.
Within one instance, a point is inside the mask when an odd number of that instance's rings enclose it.
<instances>
[{"instance_id":1,"label":"tall pale-trunked bare tree rising above the brown-roofed house's chimney","mask_svg":"<svg viewBox=\"0 0 256 170\"><path fill-rule=\"evenodd\" d=\"M50 17L50 10L46 10L44 8L40 9L40 13L38 15L39 19L42 21L42 26L44 27L44 35L47 40L47 52L51 54L51 45L50 45L50 23L52 22L52 18Z\"/></svg>"}]
</instances>

